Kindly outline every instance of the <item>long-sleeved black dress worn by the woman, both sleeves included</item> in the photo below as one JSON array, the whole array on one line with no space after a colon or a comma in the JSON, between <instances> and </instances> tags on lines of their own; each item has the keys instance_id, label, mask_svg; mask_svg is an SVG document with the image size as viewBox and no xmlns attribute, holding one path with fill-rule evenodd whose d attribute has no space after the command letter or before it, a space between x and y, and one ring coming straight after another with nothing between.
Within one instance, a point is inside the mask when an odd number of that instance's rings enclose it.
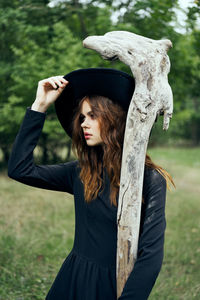
<instances>
[{"instance_id":1,"label":"long-sleeved black dress worn by the woman, both sleeves included","mask_svg":"<svg viewBox=\"0 0 200 300\"><path fill-rule=\"evenodd\" d=\"M110 205L109 178L102 194L86 204L78 161L35 165L33 150L46 113L27 108L13 145L8 176L48 190L74 194L75 238L46 300L116 300L117 207ZM145 167L138 258L120 300L148 298L163 261L166 181Z\"/></svg>"}]
</instances>

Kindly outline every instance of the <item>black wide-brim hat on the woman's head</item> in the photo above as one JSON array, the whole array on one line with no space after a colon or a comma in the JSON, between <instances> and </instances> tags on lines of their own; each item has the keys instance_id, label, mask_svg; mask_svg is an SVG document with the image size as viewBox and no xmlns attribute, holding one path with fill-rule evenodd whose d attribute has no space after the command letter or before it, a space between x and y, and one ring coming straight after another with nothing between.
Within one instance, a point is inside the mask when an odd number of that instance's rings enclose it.
<instances>
[{"instance_id":1,"label":"black wide-brim hat on the woman's head","mask_svg":"<svg viewBox=\"0 0 200 300\"><path fill-rule=\"evenodd\" d=\"M70 137L75 109L86 95L107 97L128 111L135 89L135 80L129 74L109 68L89 68L75 70L64 78L69 83L55 101L55 109L58 120Z\"/></svg>"}]
</instances>

